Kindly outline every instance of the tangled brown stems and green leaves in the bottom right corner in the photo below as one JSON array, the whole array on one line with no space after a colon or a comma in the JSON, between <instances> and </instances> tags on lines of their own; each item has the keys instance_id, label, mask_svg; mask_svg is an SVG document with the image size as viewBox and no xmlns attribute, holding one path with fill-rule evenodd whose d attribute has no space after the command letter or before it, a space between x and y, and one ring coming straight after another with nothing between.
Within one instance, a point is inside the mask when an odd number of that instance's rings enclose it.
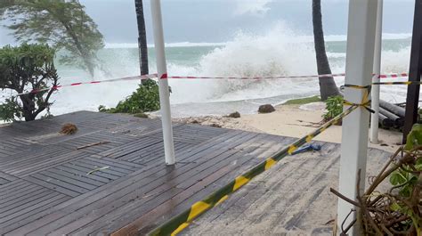
<instances>
[{"instance_id":1,"label":"tangled brown stems and green leaves in the bottom right corner","mask_svg":"<svg viewBox=\"0 0 422 236\"><path fill-rule=\"evenodd\" d=\"M411 131L413 132L413 130ZM411 134L411 133L410 133ZM409 141L408 136L408 141ZM353 204L356 211L351 224L345 224L340 235L348 234L358 222L365 235L420 235L422 232L422 146L410 142L395 153L377 176L369 178L368 189L361 194L361 169L358 170L356 199L349 199L340 192L330 189L338 198ZM350 216L351 214L349 214ZM343 225L342 224L342 225Z\"/></svg>"}]
</instances>

